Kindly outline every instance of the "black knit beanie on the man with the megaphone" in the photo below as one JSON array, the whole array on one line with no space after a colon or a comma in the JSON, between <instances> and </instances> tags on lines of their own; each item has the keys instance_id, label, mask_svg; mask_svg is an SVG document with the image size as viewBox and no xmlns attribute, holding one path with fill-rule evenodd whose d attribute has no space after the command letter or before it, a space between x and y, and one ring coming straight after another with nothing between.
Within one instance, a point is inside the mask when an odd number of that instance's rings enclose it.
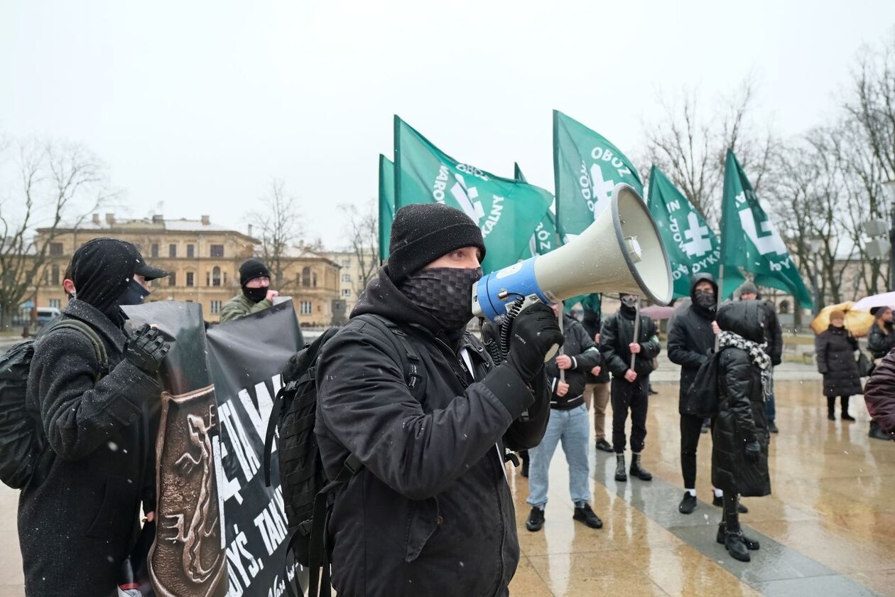
<instances>
[{"instance_id":1,"label":"black knit beanie on the man with the megaphone","mask_svg":"<svg viewBox=\"0 0 895 597\"><path fill-rule=\"evenodd\" d=\"M459 209L440 203L414 203L398 209L388 244L388 276L400 285L447 253L477 247L485 257L482 231Z\"/></svg>"}]
</instances>

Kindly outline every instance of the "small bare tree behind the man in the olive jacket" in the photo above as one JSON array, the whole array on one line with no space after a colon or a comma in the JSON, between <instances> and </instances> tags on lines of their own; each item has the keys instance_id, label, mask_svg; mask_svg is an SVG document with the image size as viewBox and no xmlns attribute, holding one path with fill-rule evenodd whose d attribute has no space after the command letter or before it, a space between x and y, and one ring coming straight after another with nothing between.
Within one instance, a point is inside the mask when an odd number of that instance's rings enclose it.
<instances>
[{"instance_id":1,"label":"small bare tree behind the man in the olive jacket","mask_svg":"<svg viewBox=\"0 0 895 597\"><path fill-rule=\"evenodd\" d=\"M287 195L282 180L270 181L267 194L260 198L260 209L248 215L256 230L260 230L260 258L273 277L271 283L279 292L289 291L294 280L283 275L290 251L299 242L303 228L298 217L298 203Z\"/></svg>"}]
</instances>

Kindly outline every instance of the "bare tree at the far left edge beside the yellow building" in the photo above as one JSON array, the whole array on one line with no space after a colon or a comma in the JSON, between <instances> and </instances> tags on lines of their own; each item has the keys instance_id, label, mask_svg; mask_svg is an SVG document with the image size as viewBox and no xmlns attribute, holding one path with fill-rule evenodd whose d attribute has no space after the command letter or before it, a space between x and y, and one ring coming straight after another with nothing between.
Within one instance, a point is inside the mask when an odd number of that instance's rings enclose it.
<instances>
[{"instance_id":1,"label":"bare tree at the far left edge beside the yellow building","mask_svg":"<svg viewBox=\"0 0 895 597\"><path fill-rule=\"evenodd\" d=\"M7 330L19 305L37 294L59 230L80 227L115 192L105 166L80 145L6 141L0 169L14 173L0 200L0 328Z\"/></svg>"}]
</instances>

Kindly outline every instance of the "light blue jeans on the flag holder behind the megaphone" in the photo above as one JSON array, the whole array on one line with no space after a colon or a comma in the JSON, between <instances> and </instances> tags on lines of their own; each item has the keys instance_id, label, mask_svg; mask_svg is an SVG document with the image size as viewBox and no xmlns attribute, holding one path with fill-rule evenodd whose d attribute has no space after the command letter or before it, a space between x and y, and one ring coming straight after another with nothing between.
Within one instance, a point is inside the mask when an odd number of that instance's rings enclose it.
<instances>
[{"instance_id":1,"label":"light blue jeans on the flag holder behind the megaphone","mask_svg":"<svg viewBox=\"0 0 895 597\"><path fill-rule=\"evenodd\" d=\"M550 460L562 441L562 451L568 461L568 491L575 507L584 507L591 501L588 487L590 465L587 461L587 406L580 405L567 411L550 409L550 421L544 439L537 448L528 451L528 499L525 501L543 509L547 506Z\"/></svg>"}]
</instances>

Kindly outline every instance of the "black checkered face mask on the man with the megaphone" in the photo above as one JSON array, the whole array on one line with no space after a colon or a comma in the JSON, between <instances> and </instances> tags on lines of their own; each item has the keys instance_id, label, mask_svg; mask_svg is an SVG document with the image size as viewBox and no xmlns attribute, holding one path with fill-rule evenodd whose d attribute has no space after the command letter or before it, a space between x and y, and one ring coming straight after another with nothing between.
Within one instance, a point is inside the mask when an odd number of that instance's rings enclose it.
<instances>
[{"instance_id":1,"label":"black checkered face mask on the man with the megaphone","mask_svg":"<svg viewBox=\"0 0 895 597\"><path fill-rule=\"evenodd\" d=\"M447 332L465 327L473 319L473 284L482 268L432 268L411 274L401 292L428 313Z\"/></svg>"}]
</instances>

